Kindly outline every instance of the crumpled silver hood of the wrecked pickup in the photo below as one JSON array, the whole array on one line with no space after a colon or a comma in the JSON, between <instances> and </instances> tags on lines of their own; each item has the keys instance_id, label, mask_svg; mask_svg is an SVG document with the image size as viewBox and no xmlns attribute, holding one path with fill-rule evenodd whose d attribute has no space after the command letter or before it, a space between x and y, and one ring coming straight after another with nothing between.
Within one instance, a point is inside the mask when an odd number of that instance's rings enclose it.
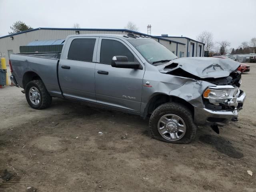
<instances>
[{"instance_id":1,"label":"crumpled silver hood of the wrecked pickup","mask_svg":"<svg viewBox=\"0 0 256 192\"><path fill-rule=\"evenodd\" d=\"M161 73L180 68L199 78L221 78L229 76L238 66L240 66L239 62L224 58L182 57L157 66L157 68Z\"/></svg>"}]
</instances>

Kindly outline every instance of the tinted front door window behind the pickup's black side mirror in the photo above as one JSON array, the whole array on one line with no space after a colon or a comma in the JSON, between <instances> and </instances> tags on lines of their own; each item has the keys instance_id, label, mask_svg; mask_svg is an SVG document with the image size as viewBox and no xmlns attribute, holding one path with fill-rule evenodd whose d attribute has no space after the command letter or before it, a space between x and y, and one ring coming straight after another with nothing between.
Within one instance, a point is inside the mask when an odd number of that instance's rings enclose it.
<instances>
[{"instance_id":1,"label":"tinted front door window behind the pickup's black side mirror","mask_svg":"<svg viewBox=\"0 0 256 192\"><path fill-rule=\"evenodd\" d=\"M136 58L130 50L121 42L116 40L102 39L100 47L100 62L111 64L114 56L126 56L128 61L134 62Z\"/></svg>"}]
</instances>

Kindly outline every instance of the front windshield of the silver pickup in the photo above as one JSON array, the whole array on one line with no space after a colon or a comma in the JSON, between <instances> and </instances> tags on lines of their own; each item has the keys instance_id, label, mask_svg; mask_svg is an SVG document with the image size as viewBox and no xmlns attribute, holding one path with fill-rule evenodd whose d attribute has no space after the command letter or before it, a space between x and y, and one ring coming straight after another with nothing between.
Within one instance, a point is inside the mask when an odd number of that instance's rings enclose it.
<instances>
[{"instance_id":1,"label":"front windshield of the silver pickup","mask_svg":"<svg viewBox=\"0 0 256 192\"><path fill-rule=\"evenodd\" d=\"M128 40L150 63L176 59L170 50L153 39L130 39ZM161 63L161 62L160 62Z\"/></svg>"}]
</instances>

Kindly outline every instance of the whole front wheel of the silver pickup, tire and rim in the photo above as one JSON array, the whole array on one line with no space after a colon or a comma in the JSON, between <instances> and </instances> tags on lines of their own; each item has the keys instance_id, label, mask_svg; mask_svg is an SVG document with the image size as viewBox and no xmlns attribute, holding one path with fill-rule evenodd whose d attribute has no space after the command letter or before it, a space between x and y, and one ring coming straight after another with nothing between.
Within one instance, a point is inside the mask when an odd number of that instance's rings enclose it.
<instances>
[{"instance_id":1,"label":"whole front wheel of the silver pickup, tire and rim","mask_svg":"<svg viewBox=\"0 0 256 192\"><path fill-rule=\"evenodd\" d=\"M170 102L154 110L150 117L149 128L152 136L158 140L188 144L195 137L197 126L186 106Z\"/></svg>"}]
</instances>

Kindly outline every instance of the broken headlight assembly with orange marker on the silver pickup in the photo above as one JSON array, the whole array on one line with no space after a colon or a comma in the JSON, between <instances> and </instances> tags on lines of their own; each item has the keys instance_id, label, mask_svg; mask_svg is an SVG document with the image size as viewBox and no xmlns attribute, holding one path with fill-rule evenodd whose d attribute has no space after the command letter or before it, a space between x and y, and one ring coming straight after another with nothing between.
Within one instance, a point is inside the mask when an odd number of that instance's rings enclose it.
<instances>
[{"instance_id":1,"label":"broken headlight assembly with orange marker on the silver pickup","mask_svg":"<svg viewBox=\"0 0 256 192\"><path fill-rule=\"evenodd\" d=\"M233 86L208 87L203 94L212 104L228 103L239 95L239 89Z\"/></svg>"}]
</instances>

